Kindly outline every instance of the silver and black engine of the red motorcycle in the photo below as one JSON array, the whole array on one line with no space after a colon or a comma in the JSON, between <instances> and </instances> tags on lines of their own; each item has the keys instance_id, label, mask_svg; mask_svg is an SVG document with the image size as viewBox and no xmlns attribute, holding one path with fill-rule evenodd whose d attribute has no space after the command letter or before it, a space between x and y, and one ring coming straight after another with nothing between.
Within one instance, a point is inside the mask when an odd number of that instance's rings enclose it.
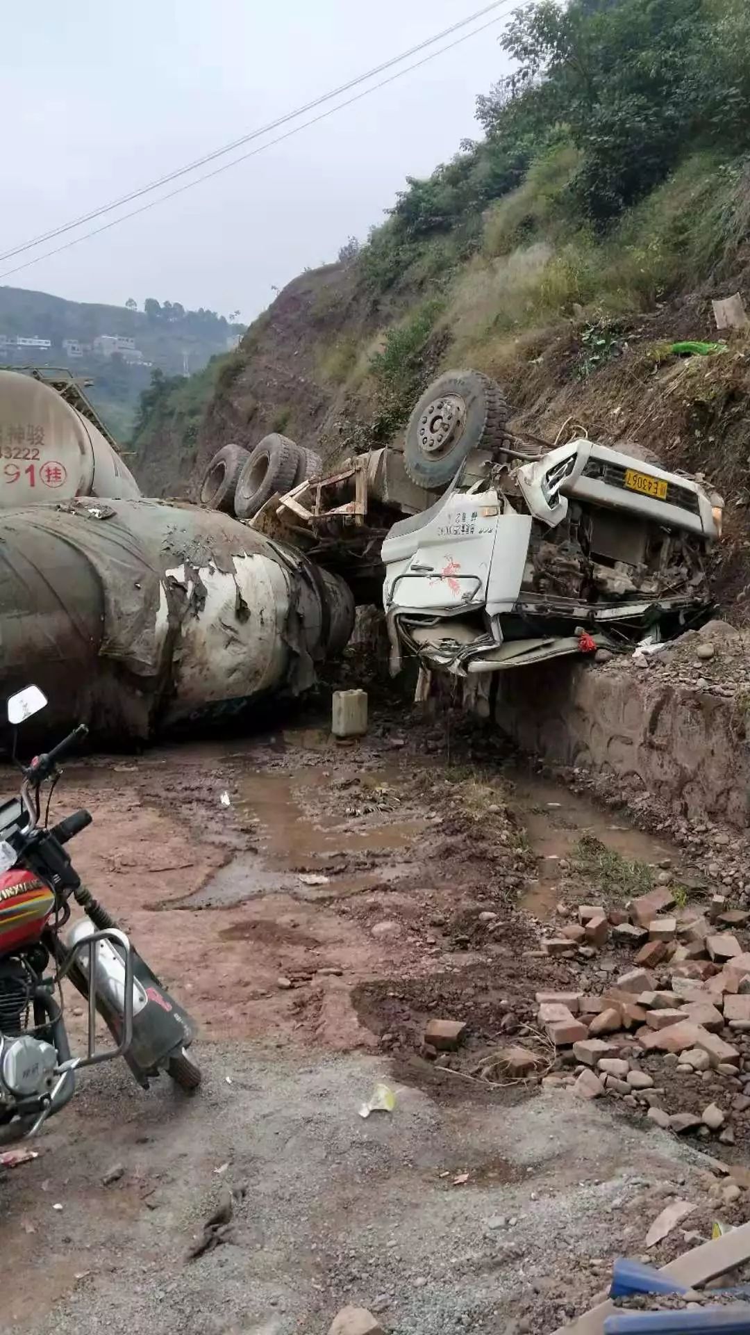
<instances>
[{"instance_id":1,"label":"silver and black engine of the red motorcycle","mask_svg":"<svg viewBox=\"0 0 750 1335\"><path fill-rule=\"evenodd\" d=\"M55 1048L24 1033L29 996L31 979L23 963L4 960L0 964L0 1105L47 1093L55 1083Z\"/></svg>"}]
</instances>

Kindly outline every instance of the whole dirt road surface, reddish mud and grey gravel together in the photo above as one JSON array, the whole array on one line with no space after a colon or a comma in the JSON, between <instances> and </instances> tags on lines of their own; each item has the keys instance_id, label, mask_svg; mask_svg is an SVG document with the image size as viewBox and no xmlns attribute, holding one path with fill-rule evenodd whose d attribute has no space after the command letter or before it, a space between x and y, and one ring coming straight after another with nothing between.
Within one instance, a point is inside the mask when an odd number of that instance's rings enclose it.
<instances>
[{"instance_id":1,"label":"whole dirt road surface, reddish mud and grey gravel together","mask_svg":"<svg viewBox=\"0 0 750 1335\"><path fill-rule=\"evenodd\" d=\"M551 1331L670 1195L705 1203L695 1149L471 1076L567 977L535 918L589 889L581 836L674 850L496 741L478 766L471 741L402 726L68 768L59 813L95 813L76 865L196 1016L206 1080L188 1099L121 1064L81 1076L40 1157L0 1176L0 1330L318 1335L354 1302L400 1335ZM442 1068L431 1016L470 1025ZM395 1109L362 1120L378 1080ZM227 1240L185 1260L227 1185Z\"/></svg>"}]
</instances>

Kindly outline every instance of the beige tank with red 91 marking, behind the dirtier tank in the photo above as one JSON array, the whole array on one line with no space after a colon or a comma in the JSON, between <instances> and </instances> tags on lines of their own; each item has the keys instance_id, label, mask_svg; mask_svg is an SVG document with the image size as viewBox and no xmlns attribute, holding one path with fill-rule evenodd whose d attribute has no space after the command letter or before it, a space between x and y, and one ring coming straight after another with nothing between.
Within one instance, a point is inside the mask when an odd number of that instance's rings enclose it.
<instances>
[{"instance_id":1,"label":"beige tank with red 91 marking, behind the dirtier tank","mask_svg":"<svg viewBox=\"0 0 750 1335\"><path fill-rule=\"evenodd\" d=\"M83 495L140 491L109 441L52 384L0 371L0 510Z\"/></svg>"}]
</instances>

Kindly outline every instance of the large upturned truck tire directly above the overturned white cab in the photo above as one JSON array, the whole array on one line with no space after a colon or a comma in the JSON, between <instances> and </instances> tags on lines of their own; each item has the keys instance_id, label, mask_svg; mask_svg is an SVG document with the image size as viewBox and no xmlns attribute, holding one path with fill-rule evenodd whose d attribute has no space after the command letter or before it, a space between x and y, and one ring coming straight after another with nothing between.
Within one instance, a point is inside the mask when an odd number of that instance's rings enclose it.
<instances>
[{"instance_id":1,"label":"large upturned truck tire directly above the overturned white cab","mask_svg":"<svg viewBox=\"0 0 750 1335\"><path fill-rule=\"evenodd\" d=\"M500 386L480 371L446 371L408 419L404 466L412 482L446 486L472 450L507 443L510 407Z\"/></svg>"}]
</instances>

